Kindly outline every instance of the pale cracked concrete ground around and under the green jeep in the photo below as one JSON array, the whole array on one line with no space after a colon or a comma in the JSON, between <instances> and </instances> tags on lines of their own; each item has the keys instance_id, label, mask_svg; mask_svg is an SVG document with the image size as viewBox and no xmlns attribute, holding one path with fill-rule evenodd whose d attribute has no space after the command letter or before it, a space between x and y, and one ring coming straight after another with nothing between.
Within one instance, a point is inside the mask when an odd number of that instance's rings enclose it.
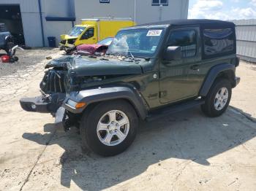
<instances>
[{"instance_id":1,"label":"pale cracked concrete ground around and under the green jeep","mask_svg":"<svg viewBox=\"0 0 256 191\"><path fill-rule=\"evenodd\" d=\"M36 51L63 53L28 50L31 61ZM81 151L77 131L56 132L50 114L20 108L20 98L39 95L47 62L0 77L0 190L255 190L255 65L241 62L221 117L195 108L143 122L126 152L99 157Z\"/></svg>"}]
</instances>

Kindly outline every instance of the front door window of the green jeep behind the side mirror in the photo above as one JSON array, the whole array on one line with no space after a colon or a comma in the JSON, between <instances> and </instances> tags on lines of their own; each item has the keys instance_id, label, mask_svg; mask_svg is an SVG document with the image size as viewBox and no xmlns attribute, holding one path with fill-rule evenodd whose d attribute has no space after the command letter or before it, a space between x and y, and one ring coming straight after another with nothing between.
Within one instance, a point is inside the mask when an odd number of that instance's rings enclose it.
<instances>
[{"instance_id":1,"label":"front door window of the green jeep behind the side mirror","mask_svg":"<svg viewBox=\"0 0 256 191\"><path fill-rule=\"evenodd\" d=\"M196 34L194 30L173 31L168 40L168 46L181 47L182 58L192 58L196 55Z\"/></svg>"}]
</instances>

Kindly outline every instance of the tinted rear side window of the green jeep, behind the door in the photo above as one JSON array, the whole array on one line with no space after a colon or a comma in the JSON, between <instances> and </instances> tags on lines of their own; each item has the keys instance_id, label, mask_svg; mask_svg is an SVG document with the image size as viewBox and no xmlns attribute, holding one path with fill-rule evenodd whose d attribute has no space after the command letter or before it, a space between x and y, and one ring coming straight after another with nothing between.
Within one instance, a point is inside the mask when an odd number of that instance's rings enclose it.
<instances>
[{"instance_id":1,"label":"tinted rear side window of the green jeep, behind the door","mask_svg":"<svg viewBox=\"0 0 256 191\"><path fill-rule=\"evenodd\" d=\"M234 33L231 28L204 29L203 45L205 57L214 55L227 55L234 51Z\"/></svg>"}]
</instances>

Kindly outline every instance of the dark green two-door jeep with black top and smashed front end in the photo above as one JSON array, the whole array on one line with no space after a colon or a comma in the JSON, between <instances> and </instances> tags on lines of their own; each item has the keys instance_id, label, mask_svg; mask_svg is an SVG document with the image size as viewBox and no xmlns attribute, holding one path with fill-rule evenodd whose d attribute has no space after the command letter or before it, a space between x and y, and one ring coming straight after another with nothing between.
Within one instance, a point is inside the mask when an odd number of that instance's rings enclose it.
<instances>
[{"instance_id":1,"label":"dark green two-door jeep with black top and smashed front end","mask_svg":"<svg viewBox=\"0 0 256 191\"><path fill-rule=\"evenodd\" d=\"M238 85L235 25L221 20L170 20L118 31L106 55L71 55L45 66L28 112L53 114L56 128L80 128L83 147L123 152L139 120L201 106L218 117Z\"/></svg>"}]
</instances>

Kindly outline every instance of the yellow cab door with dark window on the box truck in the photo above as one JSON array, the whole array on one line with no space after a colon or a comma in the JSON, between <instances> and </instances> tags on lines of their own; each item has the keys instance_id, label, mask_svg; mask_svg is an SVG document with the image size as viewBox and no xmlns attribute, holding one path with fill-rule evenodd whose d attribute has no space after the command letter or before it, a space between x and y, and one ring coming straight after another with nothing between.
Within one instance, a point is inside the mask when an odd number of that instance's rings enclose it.
<instances>
[{"instance_id":1,"label":"yellow cab door with dark window on the box truck","mask_svg":"<svg viewBox=\"0 0 256 191\"><path fill-rule=\"evenodd\" d=\"M75 42L75 46L80 44L96 44L97 43L97 31L94 27L87 28L86 31L83 31L82 34L78 37L78 40Z\"/></svg>"}]
</instances>

